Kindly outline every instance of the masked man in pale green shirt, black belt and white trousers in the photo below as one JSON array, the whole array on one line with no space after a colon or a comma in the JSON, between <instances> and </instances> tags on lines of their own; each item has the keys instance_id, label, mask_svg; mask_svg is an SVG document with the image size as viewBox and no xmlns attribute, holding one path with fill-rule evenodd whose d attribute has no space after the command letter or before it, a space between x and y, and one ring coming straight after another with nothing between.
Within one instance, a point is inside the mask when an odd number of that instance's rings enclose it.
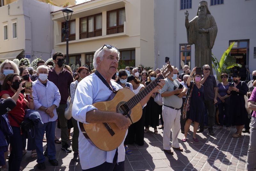
<instances>
[{"instance_id":1,"label":"masked man in pale green shirt, black belt and white trousers","mask_svg":"<svg viewBox=\"0 0 256 171\"><path fill-rule=\"evenodd\" d=\"M180 132L180 108L182 106L182 97L186 94L187 88L182 86L177 79L178 69L172 66L172 72L165 78L165 85L159 93L163 97L163 147L164 152L172 154L170 147L170 134L172 129L172 148L183 152L178 142ZM182 88L180 88L180 85Z\"/></svg>"}]
</instances>

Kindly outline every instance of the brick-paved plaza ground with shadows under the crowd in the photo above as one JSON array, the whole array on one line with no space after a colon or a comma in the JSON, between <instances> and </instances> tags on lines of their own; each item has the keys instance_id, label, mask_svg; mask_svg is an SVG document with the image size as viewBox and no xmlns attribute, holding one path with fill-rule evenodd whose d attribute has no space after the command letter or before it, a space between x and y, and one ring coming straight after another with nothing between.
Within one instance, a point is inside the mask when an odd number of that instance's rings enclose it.
<instances>
[{"instance_id":1,"label":"brick-paved plaza ground with shadows under the crowd","mask_svg":"<svg viewBox=\"0 0 256 171\"><path fill-rule=\"evenodd\" d=\"M193 130L192 126L190 130ZM250 137L248 133L242 133L240 138L233 138L231 135L236 132L235 127L232 127L230 132L226 131L226 128L215 129L216 136L209 136L208 130L205 129L203 133L197 134L199 142L193 141L192 132L189 131L188 141L184 143L181 141L183 134L180 133L178 138L184 151L174 150L174 155L163 152L163 131L158 129L158 135L153 134L153 128L150 128L150 131L145 133L143 146L128 145L132 154L125 157L126 171L245 170ZM60 129L57 129L57 136L60 136ZM71 144L71 141L69 143ZM43 145L45 149L46 143ZM56 144L59 166L52 167L46 158L45 171L82 170L80 162L72 160L73 152L66 153L60 148L61 145ZM36 159L32 159L28 151L21 162L24 171L38 170L36 164Z\"/></svg>"}]
</instances>

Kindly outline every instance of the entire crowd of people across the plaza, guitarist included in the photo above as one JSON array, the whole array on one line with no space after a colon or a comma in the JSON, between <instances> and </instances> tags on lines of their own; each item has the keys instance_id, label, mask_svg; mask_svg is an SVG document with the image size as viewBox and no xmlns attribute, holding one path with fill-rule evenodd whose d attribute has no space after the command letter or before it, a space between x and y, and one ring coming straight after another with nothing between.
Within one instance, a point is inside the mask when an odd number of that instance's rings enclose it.
<instances>
[{"instance_id":1,"label":"entire crowd of people across the plaza, guitarist included","mask_svg":"<svg viewBox=\"0 0 256 171\"><path fill-rule=\"evenodd\" d=\"M107 101L113 91L122 88L130 89L134 95L138 94L154 82L161 74L161 69L147 71L141 66L127 66L118 71L119 55L116 47L105 44L94 54L94 70L82 66L75 72L68 65L63 65L64 54L61 52L53 54L52 64L39 60L36 71L32 67L17 66L5 60L0 66L0 97L6 99L6 104L11 100L16 106L10 107L7 114L1 113L12 130L8 134L1 127L0 136L4 139L0 148L1 170L6 169L7 158L9 171L22 170L20 162L26 153L26 146L27 150L31 150L31 157L37 157L38 169L45 169L45 156L52 166L58 166L56 143L61 144L64 152L73 151L73 160L81 160L83 170L123 171L124 155L132 154L127 145L142 146L144 134L150 132L149 127L154 128L154 134L158 134L158 129L163 130L164 152L173 154L171 147L183 152L178 141L180 131L184 133L183 142L192 141L188 138L191 123L195 142L199 141L196 133L203 132L205 128L208 128L209 135L214 136L214 125L218 125L217 129L226 128L227 131L231 130L231 126L236 126L236 132L232 135L234 138L239 138L242 132L251 133L247 168L253 170L256 167L256 89L253 86L256 71L253 71L253 80L248 84L240 81L239 73L233 74L232 82L228 82L228 74L223 73L222 82L217 84L209 65L203 66L203 74L197 73L196 67L190 71L187 65L183 67L184 72L179 74L178 68L172 66L167 77L160 79L156 87L140 101L141 118L131 124L122 114L100 111L92 104ZM28 82L31 82L31 86L27 86ZM156 102L156 96L159 95L163 100L162 105ZM249 98L248 103L245 95ZM253 110L252 113L248 114L246 104ZM72 109L69 111L72 112L71 119L67 119L65 114L69 108ZM25 121L31 120L33 124L29 129L34 130L32 138L23 126ZM102 151L84 136L79 122L113 122L118 128L127 129L126 136L116 150ZM60 128L60 139L55 135L56 127ZM73 136L70 136L70 128L74 128ZM72 140L72 149L68 145L69 140ZM47 142L45 151L43 142Z\"/></svg>"}]
</instances>

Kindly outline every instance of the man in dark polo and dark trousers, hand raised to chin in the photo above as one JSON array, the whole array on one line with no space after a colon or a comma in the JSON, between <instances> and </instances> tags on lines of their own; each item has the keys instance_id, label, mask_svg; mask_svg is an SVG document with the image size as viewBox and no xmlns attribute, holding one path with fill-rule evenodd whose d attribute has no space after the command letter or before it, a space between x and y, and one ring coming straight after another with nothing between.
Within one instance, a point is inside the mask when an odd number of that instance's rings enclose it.
<instances>
[{"instance_id":1,"label":"man in dark polo and dark trousers, hand raised to chin","mask_svg":"<svg viewBox=\"0 0 256 171\"><path fill-rule=\"evenodd\" d=\"M205 106L205 113L207 110L208 114L208 131L211 136L214 136L213 132L213 126L215 124L215 107L214 104L218 102L217 95L218 95L218 89L217 89L217 83L216 79L213 75L210 74L210 66L204 65L203 66L203 73L204 76L202 77L200 84L204 85L204 106ZM202 118L200 122L200 127L197 133L204 132L204 118Z\"/></svg>"}]
</instances>

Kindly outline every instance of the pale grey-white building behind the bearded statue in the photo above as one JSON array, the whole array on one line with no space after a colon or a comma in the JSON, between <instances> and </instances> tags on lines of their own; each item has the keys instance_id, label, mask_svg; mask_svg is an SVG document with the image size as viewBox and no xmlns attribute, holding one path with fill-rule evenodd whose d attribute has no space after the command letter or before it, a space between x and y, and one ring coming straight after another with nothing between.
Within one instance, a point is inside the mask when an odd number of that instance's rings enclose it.
<instances>
[{"instance_id":1,"label":"pale grey-white building behind the bearded statue","mask_svg":"<svg viewBox=\"0 0 256 171\"><path fill-rule=\"evenodd\" d=\"M155 68L160 68L164 64L166 56L170 57L171 64L179 69L183 62L191 68L195 67L195 46L187 44L184 12L188 10L188 20L192 20L196 16L200 1L154 1ZM218 26L212 53L220 59L229 44L235 41L231 56L236 56L236 62L248 67L251 72L256 70L256 1L206 1Z\"/></svg>"}]
</instances>

